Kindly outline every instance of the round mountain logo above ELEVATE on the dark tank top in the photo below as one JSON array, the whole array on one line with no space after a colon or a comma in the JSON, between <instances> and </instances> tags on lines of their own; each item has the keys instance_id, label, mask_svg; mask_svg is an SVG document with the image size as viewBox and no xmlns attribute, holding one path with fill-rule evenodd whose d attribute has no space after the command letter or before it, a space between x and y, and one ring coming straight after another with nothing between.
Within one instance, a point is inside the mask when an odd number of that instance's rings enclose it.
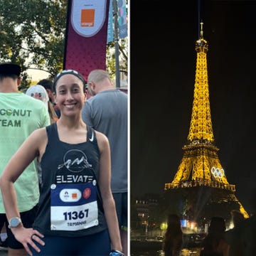
<instances>
[{"instance_id":1,"label":"round mountain logo above ELEVATE on the dark tank top","mask_svg":"<svg viewBox=\"0 0 256 256\"><path fill-rule=\"evenodd\" d=\"M71 149L65 153L63 164L58 165L58 170L64 166L72 172L80 172L84 169L92 168L92 164L88 163L85 153L79 149Z\"/></svg>"}]
</instances>

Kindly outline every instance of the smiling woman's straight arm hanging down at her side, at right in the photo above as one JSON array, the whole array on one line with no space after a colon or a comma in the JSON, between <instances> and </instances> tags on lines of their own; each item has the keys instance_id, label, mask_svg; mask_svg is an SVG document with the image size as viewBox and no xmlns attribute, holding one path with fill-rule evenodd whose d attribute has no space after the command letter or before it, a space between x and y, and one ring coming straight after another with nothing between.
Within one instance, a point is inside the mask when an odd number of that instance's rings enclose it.
<instances>
[{"instance_id":1,"label":"smiling woman's straight arm hanging down at her side, at right","mask_svg":"<svg viewBox=\"0 0 256 256\"><path fill-rule=\"evenodd\" d=\"M100 148L100 192L102 195L103 208L107 227L110 233L112 250L122 252L122 244L117 220L117 212L112 196L110 181L111 181L111 162L110 162L110 144L107 137L99 132L97 133L97 142Z\"/></svg>"}]
</instances>

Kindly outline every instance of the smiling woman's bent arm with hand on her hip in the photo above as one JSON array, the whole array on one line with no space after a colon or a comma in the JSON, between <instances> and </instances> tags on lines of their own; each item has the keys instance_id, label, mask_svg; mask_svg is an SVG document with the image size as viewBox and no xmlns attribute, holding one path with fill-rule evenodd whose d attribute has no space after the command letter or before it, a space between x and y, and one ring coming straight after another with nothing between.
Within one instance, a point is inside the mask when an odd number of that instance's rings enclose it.
<instances>
[{"instance_id":1,"label":"smiling woman's bent arm with hand on her hip","mask_svg":"<svg viewBox=\"0 0 256 256\"><path fill-rule=\"evenodd\" d=\"M23 142L14 156L11 157L9 163L4 169L3 174L0 177L1 193L4 201L4 208L6 210L6 218L8 220L13 217L21 217L18 212L14 182L31 163L31 161L40 155L43 139L46 138L47 136L45 128L34 131L28 137L28 139ZM39 233L37 230L33 230L32 228L24 228L22 223L16 228L11 228L11 231L14 233L16 240L23 244L29 255L31 255L31 250L28 248L28 243L33 246L35 250L39 250L39 248L35 245L33 240L36 240L41 245L44 245L43 241L39 238L42 238L43 235L41 235L41 233ZM33 236L32 240L31 235L33 234L36 235Z\"/></svg>"}]
</instances>

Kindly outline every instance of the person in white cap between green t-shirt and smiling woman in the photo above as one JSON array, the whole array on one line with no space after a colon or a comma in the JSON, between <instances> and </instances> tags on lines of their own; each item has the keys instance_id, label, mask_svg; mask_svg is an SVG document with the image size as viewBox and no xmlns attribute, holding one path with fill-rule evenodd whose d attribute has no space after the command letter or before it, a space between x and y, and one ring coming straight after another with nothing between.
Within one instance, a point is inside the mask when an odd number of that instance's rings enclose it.
<instances>
[{"instance_id":1,"label":"person in white cap between green t-shirt and smiling woman","mask_svg":"<svg viewBox=\"0 0 256 256\"><path fill-rule=\"evenodd\" d=\"M32 85L28 90L26 90L26 95L42 100L45 103L50 116L50 124L58 120L58 116L53 109L53 105L50 103L48 93L42 85Z\"/></svg>"}]
</instances>

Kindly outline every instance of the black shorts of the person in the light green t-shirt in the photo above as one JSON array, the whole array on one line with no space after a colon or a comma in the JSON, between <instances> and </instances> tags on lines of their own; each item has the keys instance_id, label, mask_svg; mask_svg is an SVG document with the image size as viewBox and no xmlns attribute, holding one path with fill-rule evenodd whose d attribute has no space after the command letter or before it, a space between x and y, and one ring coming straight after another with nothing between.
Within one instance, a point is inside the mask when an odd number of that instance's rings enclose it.
<instances>
[{"instance_id":1,"label":"black shorts of the person in the light green t-shirt","mask_svg":"<svg viewBox=\"0 0 256 256\"><path fill-rule=\"evenodd\" d=\"M25 228L32 228L33 222L36 217L37 209L38 206L35 206L31 210L27 210L26 212L20 213L21 220ZM3 227L4 223L6 225L7 246L10 247L11 249L23 249L23 245L21 244L21 242L18 242L15 239L14 234L11 232L11 229L8 228L9 223L6 219L6 214L0 213L0 228Z\"/></svg>"}]
</instances>

